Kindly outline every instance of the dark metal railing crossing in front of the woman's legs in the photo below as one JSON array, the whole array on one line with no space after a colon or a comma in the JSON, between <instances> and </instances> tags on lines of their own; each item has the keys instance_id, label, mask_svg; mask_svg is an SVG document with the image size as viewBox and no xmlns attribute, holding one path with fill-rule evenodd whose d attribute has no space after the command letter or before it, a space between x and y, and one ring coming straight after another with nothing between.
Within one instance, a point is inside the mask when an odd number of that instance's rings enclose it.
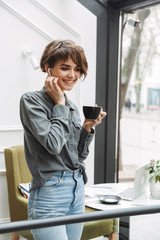
<instances>
[{"instance_id":1,"label":"dark metal railing crossing in front of the woman's legs","mask_svg":"<svg viewBox=\"0 0 160 240\"><path fill-rule=\"evenodd\" d=\"M12 223L1 224L0 234L35 229L35 228L66 225L71 223L135 216L135 215L142 215L142 214L144 215L144 214L152 214L152 213L159 213L159 212L160 212L160 205L152 205L152 206L124 208L124 209L112 209L107 211L96 211L91 213L75 214L75 215L56 217L56 218L16 221Z\"/></svg>"}]
</instances>

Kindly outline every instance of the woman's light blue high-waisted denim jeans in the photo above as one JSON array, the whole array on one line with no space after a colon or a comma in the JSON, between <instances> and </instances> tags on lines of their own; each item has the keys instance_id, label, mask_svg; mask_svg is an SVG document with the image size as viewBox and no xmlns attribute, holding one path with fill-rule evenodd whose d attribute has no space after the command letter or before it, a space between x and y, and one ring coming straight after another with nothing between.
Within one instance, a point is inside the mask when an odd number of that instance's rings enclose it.
<instances>
[{"instance_id":1,"label":"woman's light blue high-waisted denim jeans","mask_svg":"<svg viewBox=\"0 0 160 240\"><path fill-rule=\"evenodd\" d=\"M79 170L55 172L51 179L32 190L28 218L42 219L84 213L84 182ZM83 223L32 230L34 240L80 240Z\"/></svg>"}]
</instances>

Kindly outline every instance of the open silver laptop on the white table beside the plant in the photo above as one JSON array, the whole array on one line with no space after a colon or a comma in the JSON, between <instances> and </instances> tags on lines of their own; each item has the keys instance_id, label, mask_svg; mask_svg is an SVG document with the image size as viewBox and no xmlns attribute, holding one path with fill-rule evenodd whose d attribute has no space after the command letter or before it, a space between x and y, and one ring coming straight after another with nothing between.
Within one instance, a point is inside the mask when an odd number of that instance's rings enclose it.
<instances>
[{"instance_id":1,"label":"open silver laptop on the white table beside the plant","mask_svg":"<svg viewBox=\"0 0 160 240\"><path fill-rule=\"evenodd\" d=\"M149 177L148 171L146 170L147 165L144 165L136 170L133 187L128 187L127 189L117 194L119 197L121 197L121 199L131 201L146 191Z\"/></svg>"}]
</instances>

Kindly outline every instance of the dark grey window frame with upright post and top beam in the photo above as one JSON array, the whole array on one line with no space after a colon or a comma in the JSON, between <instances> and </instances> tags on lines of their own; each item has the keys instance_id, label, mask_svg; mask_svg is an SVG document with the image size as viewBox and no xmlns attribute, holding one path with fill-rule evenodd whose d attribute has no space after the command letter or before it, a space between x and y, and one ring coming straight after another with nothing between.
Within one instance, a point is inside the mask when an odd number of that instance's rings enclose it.
<instances>
[{"instance_id":1,"label":"dark grey window frame with upright post and top beam","mask_svg":"<svg viewBox=\"0 0 160 240\"><path fill-rule=\"evenodd\" d=\"M117 182L121 21L123 13L160 0L77 1L97 16L96 103L107 112L95 136L94 183Z\"/></svg>"}]
</instances>

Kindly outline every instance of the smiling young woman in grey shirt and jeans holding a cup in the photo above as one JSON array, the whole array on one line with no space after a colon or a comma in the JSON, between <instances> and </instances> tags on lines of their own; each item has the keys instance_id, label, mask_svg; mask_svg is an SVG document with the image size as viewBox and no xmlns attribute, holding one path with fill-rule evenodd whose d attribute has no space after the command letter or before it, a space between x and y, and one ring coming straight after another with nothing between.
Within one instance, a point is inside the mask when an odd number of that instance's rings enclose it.
<instances>
[{"instance_id":1,"label":"smiling young woman in grey shirt and jeans holding a cup","mask_svg":"<svg viewBox=\"0 0 160 240\"><path fill-rule=\"evenodd\" d=\"M48 73L41 91L25 93L20 100L26 161L32 174L29 219L66 216L84 212L84 160L97 120L81 125L76 106L67 98L88 63L80 46L71 40L49 43L40 66ZM32 230L35 240L80 240L83 223Z\"/></svg>"}]
</instances>

